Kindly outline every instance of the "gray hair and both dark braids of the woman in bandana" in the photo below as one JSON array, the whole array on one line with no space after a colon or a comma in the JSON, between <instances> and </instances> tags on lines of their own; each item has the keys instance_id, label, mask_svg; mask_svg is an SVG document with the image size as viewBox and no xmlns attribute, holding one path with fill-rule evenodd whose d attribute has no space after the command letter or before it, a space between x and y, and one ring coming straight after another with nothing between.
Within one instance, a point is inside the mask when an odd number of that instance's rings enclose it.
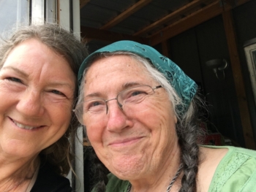
<instances>
[{"instance_id":1,"label":"gray hair and both dark braids of the woman in bandana","mask_svg":"<svg viewBox=\"0 0 256 192\"><path fill-rule=\"evenodd\" d=\"M169 96L169 101L172 103L173 112L177 117L177 124L176 124L176 133L178 135L178 145L181 148L181 164L183 164L183 172L184 175L181 179L181 188L179 192L194 192L197 190L197 172L198 172L198 165L199 165L199 147L198 144L200 142L199 138L202 138L203 131L198 128L198 113L197 105L202 105L203 101L200 99L199 96L195 95L194 99L189 105L187 112L183 115L178 111L178 106L184 105L181 101L181 98L178 96L174 88L170 85L170 82L164 77L161 72L158 72L154 66L152 66L151 62L148 61L146 58L140 57L134 53L118 51L115 53L98 53L94 56L91 60L91 64L95 59L100 57L109 57L112 55L129 55L131 58L134 58L135 61L138 61L138 64L143 64L146 71L148 71L148 75L152 77L154 80L159 82ZM90 65L86 68L83 74L84 82L86 80L86 72L88 71ZM84 93L84 85L82 83L80 88L80 95L79 100L83 99ZM79 102L79 101L78 101ZM108 169L102 164L101 161L97 158L96 153L94 150L91 151L91 157L94 160L94 183L97 185L94 187L94 190L97 192L104 192L105 185L108 183Z\"/></svg>"}]
</instances>

